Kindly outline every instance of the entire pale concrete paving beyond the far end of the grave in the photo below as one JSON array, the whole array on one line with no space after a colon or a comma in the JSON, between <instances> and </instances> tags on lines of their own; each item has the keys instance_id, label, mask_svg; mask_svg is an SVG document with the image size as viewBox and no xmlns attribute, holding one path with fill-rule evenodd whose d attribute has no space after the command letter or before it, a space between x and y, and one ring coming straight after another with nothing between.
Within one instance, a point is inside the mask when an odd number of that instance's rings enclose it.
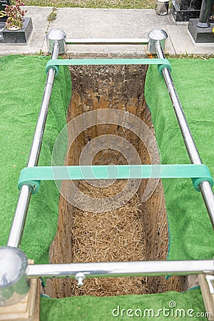
<instances>
[{"instance_id":1,"label":"entire pale concrete paving beyond the far end of the grave","mask_svg":"<svg viewBox=\"0 0 214 321\"><path fill-rule=\"evenodd\" d=\"M161 28L168 33L167 51L170 54L213 54L214 44L195 44L188 33L188 23L176 23L173 17L158 16L155 10L144 9L57 9L56 21L47 21L51 7L26 6L26 16L32 18L33 33L28 44L0 44L0 55L38 54L46 52L46 31L62 29L68 38L146 38L149 31ZM143 45L69 45L68 53L134 54L146 52Z\"/></svg>"}]
</instances>

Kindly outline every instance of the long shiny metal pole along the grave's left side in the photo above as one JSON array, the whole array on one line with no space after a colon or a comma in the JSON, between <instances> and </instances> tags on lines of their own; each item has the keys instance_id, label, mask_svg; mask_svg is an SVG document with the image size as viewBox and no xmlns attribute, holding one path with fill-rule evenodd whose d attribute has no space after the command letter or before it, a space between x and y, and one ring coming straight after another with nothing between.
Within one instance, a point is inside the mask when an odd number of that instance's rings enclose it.
<instances>
[{"instance_id":1,"label":"long shiny metal pole along the grave's left side","mask_svg":"<svg viewBox=\"0 0 214 321\"><path fill-rule=\"evenodd\" d=\"M56 42L53 46L53 51L51 59L58 58L59 45ZM50 68L46 78L46 86L44 89L44 96L41 103L41 108L39 112L39 118L36 124L36 131L34 133L34 141L31 146L31 152L29 156L29 161L27 166L34 167L38 164L39 154L41 151L42 138L44 136L44 128L46 125L46 118L49 110L49 102L51 98L51 91L54 84L55 70ZM28 185L22 186L19 193L19 200L16 205L16 211L14 214L14 220L11 225L11 230L9 234L9 239L7 242L8 246L18 247L21 243L22 233L24 230L24 224L26 220L26 215L29 208L29 203L31 199L31 188Z\"/></svg>"}]
</instances>

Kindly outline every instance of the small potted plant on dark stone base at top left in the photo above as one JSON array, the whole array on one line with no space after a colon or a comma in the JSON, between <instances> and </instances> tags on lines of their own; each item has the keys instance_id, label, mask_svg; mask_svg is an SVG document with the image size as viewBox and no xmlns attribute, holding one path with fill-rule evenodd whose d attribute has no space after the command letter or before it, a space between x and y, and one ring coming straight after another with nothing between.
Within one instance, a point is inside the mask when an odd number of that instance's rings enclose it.
<instances>
[{"instance_id":1,"label":"small potted plant on dark stone base at top left","mask_svg":"<svg viewBox=\"0 0 214 321\"><path fill-rule=\"evenodd\" d=\"M21 0L14 0L14 3L11 6L6 5L6 27L8 30L19 30L23 27L24 23L24 14L26 10L21 9L21 6L24 6L24 2Z\"/></svg>"}]
</instances>

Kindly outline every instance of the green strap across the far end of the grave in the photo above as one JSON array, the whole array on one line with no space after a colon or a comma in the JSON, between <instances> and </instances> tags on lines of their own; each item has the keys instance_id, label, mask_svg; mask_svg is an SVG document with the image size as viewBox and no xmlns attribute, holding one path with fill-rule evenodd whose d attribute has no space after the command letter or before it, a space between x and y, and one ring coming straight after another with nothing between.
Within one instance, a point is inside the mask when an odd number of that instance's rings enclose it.
<instances>
[{"instance_id":1,"label":"green strap across the far end of the grave","mask_svg":"<svg viewBox=\"0 0 214 321\"><path fill-rule=\"evenodd\" d=\"M46 64L46 73L54 68L56 76L59 66L98 66L98 65L158 65L162 75L163 68L172 71L168 59L165 58L107 58L107 59L50 59Z\"/></svg>"}]
</instances>

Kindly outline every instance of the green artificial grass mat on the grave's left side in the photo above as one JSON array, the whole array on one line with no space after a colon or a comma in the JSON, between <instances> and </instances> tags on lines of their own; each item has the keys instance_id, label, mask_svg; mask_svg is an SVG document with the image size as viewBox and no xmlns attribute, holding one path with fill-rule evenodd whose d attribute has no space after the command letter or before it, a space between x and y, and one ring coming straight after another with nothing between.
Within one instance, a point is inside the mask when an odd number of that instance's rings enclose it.
<instances>
[{"instance_id":1,"label":"green artificial grass mat on the grave's left side","mask_svg":"<svg viewBox=\"0 0 214 321\"><path fill-rule=\"evenodd\" d=\"M0 245L6 245L19 196L17 181L26 166L46 81L49 57L0 58ZM61 68L54 82L39 165L51 165L51 153L71 97L68 68ZM58 195L54 181L44 182L32 196L21 249L36 263L49 262L49 245L56 234Z\"/></svg>"}]
</instances>

